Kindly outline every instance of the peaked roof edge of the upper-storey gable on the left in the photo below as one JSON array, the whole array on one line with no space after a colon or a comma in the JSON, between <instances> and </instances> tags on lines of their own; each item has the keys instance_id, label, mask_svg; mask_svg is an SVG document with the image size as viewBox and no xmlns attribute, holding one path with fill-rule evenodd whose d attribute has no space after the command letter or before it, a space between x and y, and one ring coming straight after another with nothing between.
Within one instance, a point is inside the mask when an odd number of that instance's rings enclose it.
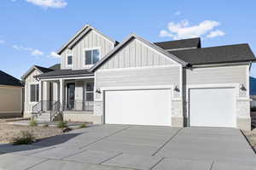
<instances>
[{"instance_id":1,"label":"peaked roof edge of the upper-storey gable on the left","mask_svg":"<svg viewBox=\"0 0 256 170\"><path fill-rule=\"evenodd\" d=\"M79 40L84 37L89 31L94 30L97 33L101 34L103 37L106 37L110 42L113 42L115 45L117 42L113 40L112 38L102 34L101 31L96 30L93 26L85 25L81 30L79 30L67 43L65 43L58 51L57 54L61 54L62 51L64 51L66 48L73 48L73 46L79 42Z\"/></svg>"}]
</instances>

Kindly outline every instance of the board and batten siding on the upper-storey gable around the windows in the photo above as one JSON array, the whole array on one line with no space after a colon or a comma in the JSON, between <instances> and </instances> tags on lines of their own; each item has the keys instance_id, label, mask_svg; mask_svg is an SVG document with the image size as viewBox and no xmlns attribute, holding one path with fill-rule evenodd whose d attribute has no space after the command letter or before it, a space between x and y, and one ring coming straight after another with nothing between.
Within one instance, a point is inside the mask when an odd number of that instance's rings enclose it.
<instances>
[{"instance_id":1,"label":"board and batten siding on the upper-storey gable around the windows","mask_svg":"<svg viewBox=\"0 0 256 170\"><path fill-rule=\"evenodd\" d=\"M100 57L104 57L113 48L114 43L109 41L108 38L103 37L96 31L88 32L72 49L65 49L61 53L61 69L86 69L88 66L84 65L84 51L86 49L99 48ZM67 56L73 55L73 65L67 65ZM91 66L91 65L90 65Z\"/></svg>"}]
</instances>

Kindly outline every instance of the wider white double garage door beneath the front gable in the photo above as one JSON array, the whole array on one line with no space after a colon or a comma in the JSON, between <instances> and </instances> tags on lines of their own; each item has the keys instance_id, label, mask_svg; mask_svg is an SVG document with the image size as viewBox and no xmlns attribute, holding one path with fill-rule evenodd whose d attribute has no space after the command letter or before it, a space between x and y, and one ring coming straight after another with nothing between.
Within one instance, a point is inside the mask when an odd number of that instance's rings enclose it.
<instances>
[{"instance_id":1,"label":"wider white double garage door beneath the front gable","mask_svg":"<svg viewBox=\"0 0 256 170\"><path fill-rule=\"evenodd\" d=\"M171 89L105 92L105 123L171 126Z\"/></svg>"}]
</instances>

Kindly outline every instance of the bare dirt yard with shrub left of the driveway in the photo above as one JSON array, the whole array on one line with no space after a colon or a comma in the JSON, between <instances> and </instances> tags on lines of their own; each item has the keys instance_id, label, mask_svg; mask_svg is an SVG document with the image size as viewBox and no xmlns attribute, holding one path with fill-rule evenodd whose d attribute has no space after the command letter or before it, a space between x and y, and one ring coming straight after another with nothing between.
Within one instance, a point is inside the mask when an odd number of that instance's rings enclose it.
<instances>
[{"instance_id":1,"label":"bare dirt yard with shrub left of the driveway","mask_svg":"<svg viewBox=\"0 0 256 170\"><path fill-rule=\"evenodd\" d=\"M14 137L20 134L20 131L26 130L33 133L36 139L62 134L62 129L58 127L30 127L0 122L0 144L10 143Z\"/></svg>"}]
</instances>

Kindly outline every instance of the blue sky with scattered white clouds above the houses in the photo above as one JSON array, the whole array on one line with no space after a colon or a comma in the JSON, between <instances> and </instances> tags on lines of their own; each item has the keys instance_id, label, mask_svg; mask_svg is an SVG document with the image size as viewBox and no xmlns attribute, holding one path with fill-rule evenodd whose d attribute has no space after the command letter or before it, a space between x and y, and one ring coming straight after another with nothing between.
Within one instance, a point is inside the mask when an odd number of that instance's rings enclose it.
<instances>
[{"instance_id":1,"label":"blue sky with scattered white clouds above the houses","mask_svg":"<svg viewBox=\"0 0 256 170\"><path fill-rule=\"evenodd\" d=\"M131 33L201 37L202 47L248 43L256 54L255 8L254 0L1 0L0 70L20 78L32 65L60 63L55 52L85 24L119 42Z\"/></svg>"}]
</instances>

